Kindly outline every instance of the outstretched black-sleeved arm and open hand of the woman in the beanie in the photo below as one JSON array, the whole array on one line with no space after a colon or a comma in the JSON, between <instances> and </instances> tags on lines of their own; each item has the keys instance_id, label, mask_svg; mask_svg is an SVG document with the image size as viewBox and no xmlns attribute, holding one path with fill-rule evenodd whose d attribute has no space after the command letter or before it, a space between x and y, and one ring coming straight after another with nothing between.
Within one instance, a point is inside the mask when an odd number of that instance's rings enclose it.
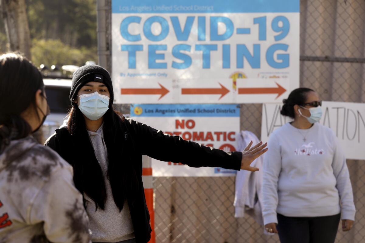
<instances>
[{"instance_id":1,"label":"outstretched black-sleeved arm and open hand of the woman in the beanie","mask_svg":"<svg viewBox=\"0 0 365 243\"><path fill-rule=\"evenodd\" d=\"M265 150L262 151L266 145L256 145L252 149L248 147L244 154L224 152L220 149L183 140L178 136L164 134L161 130L156 130L132 119L126 119L126 122L130 124L128 127L131 129L130 132L134 133L140 152L161 161L181 162L191 167L222 167L238 171L242 168L254 171L257 169L250 167L251 162L266 152Z\"/></svg>"}]
</instances>

